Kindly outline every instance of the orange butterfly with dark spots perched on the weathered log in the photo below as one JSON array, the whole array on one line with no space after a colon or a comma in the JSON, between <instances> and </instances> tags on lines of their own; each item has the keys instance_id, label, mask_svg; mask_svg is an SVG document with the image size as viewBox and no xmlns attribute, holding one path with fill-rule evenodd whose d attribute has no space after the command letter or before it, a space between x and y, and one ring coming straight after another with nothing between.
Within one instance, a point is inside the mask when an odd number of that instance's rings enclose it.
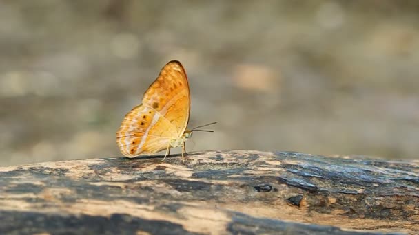
<instances>
[{"instance_id":1,"label":"orange butterfly with dark spots perched on the weathered log","mask_svg":"<svg viewBox=\"0 0 419 235\"><path fill-rule=\"evenodd\" d=\"M182 161L185 142L193 131L187 129L190 116L190 90L183 65L172 60L161 69L159 76L148 87L142 104L128 112L119 130L116 144L125 157L157 153L166 150L163 161L170 155L170 148L182 147Z\"/></svg>"}]
</instances>

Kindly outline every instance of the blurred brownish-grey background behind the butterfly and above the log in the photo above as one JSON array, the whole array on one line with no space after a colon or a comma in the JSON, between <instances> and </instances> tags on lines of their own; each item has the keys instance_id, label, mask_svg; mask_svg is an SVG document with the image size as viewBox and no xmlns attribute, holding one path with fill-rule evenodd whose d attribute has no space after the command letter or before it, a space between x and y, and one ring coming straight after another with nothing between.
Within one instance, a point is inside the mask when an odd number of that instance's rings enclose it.
<instances>
[{"instance_id":1,"label":"blurred brownish-grey background behind the butterfly and above the log","mask_svg":"<svg viewBox=\"0 0 419 235\"><path fill-rule=\"evenodd\" d=\"M121 156L169 60L187 150L419 159L419 1L0 0L0 166ZM174 151L179 153L179 150Z\"/></svg>"}]
</instances>

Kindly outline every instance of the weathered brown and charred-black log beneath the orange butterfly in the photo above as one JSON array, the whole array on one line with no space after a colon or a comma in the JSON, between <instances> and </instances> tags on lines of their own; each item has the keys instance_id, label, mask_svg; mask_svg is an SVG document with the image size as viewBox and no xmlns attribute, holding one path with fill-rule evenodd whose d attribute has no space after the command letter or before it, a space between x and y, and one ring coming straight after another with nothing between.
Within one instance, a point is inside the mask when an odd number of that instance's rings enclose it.
<instances>
[{"instance_id":1,"label":"weathered brown and charred-black log beneath the orange butterfly","mask_svg":"<svg viewBox=\"0 0 419 235\"><path fill-rule=\"evenodd\" d=\"M419 161L210 151L0 168L0 234L419 234Z\"/></svg>"}]
</instances>

